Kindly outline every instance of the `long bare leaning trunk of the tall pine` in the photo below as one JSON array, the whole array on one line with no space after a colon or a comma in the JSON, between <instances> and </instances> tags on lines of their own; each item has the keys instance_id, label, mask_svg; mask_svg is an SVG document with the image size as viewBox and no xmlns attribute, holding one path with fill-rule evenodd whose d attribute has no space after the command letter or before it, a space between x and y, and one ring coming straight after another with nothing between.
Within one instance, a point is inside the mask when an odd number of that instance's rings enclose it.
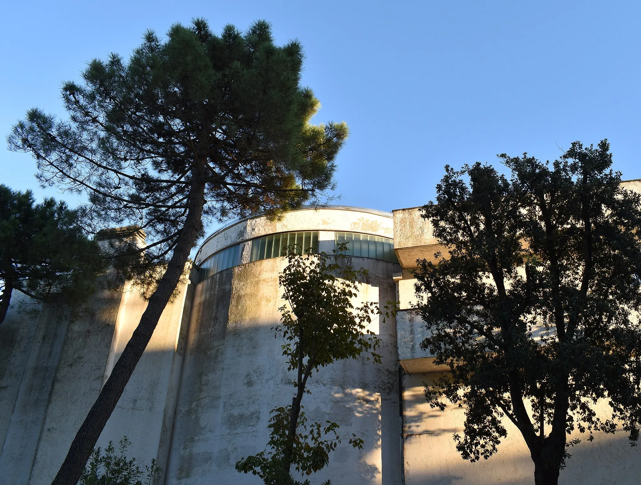
<instances>
[{"instance_id":1,"label":"long bare leaning trunk of the tall pine","mask_svg":"<svg viewBox=\"0 0 641 485\"><path fill-rule=\"evenodd\" d=\"M124 348L121 357L113 366L109 379L104 384L98 399L91 407L87 418L82 423L76 433L71 448L67 452L67 457L63 462L58 474L52 482L52 485L76 485L81 473L87 464L89 456L96 446L96 441L103 432L104 425L112 415L118 400L120 399L124 388L133 374L134 369L147 343L156 329L158 320L162 315L167 302L176 289L180 277L185 271L185 264L189 253L194 247L202 227L201 217L204 206L204 182L197 184L192 182L190 191L190 200L188 202L188 213L185 219L185 225L178 236L178 243L174 248L174 253L167 265L165 274L158 283L158 288L149 298L147 309L140 318L138 327L133 332L131 339Z\"/></svg>"}]
</instances>

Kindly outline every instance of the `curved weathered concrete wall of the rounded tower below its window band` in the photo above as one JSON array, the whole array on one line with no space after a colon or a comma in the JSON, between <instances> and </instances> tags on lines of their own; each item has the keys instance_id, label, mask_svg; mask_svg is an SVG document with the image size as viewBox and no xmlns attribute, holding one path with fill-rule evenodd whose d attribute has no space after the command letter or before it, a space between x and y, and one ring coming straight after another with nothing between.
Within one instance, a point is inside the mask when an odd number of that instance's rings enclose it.
<instances>
[{"instance_id":1,"label":"curved weathered concrete wall of the rounded tower below its window band","mask_svg":"<svg viewBox=\"0 0 641 485\"><path fill-rule=\"evenodd\" d=\"M283 304L278 274L285 258L265 259L213 275L196 288L192 322L174 425L168 484L259 484L234 465L267 443L269 410L291 402L294 375L287 372L272 327ZM394 299L397 265L353 258L370 270L379 300ZM364 294L364 293L363 293ZM395 322L379 325L383 365L343 361L310 382L303 400L310 422L331 419L340 434L354 432L365 448L340 445L326 478L340 483L401 482Z\"/></svg>"}]
</instances>

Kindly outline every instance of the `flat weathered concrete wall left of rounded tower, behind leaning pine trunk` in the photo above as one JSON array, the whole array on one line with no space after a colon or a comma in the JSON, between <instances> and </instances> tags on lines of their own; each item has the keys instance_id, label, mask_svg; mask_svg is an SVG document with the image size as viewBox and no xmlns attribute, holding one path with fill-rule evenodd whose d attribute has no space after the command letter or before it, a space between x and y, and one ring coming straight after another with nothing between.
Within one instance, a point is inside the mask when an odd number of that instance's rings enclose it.
<instances>
[{"instance_id":1,"label":"flat weathered concrete wall left of rounded tower, behind leaning pine trunk","mask_svg":"<svg viewBox=\"0 0 641 485\"><path fill-rule=\"evenodd\" d=\"M98 445L133 442L138 463L166 469L187 337L192 286L163 312ZM0 325L0 431L3 484L49 484L146 301L137 288L103 289L69 321L53 311L19 313L18 295ZM159 477L162 481L163 475Z\"/></svg>"}]
</instances>

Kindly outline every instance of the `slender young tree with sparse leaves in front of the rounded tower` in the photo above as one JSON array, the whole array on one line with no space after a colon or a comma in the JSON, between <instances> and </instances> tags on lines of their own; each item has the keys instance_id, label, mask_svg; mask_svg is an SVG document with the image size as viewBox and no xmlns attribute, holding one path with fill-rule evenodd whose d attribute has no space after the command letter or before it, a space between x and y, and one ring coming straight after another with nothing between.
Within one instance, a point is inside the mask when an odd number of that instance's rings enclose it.
<instances>
[{"instance_id":1,"label":"slender young tree with sparse leaves in front of the rounded tower","mask_svg":"<svg viewBox=\"0 0 641 485\"><path fill-rule=\"evenodd\" d=\"M292 404L272 409L269 451L236 463L238 472L258 475L266 485L299 484L290 473L292 465L297 472L311 475L329 463L329 453L340 443L337 423L306 424L301 402L304 394L310 393L306 388L310 375L335 361L357 359L363 353L369 354L374 363L381 362L376 353L379 338L367 329L372 316L380 313L378 303L364 302L354 307L358 281L367 272L346 264L347 256L341 252L345 244L333 254L306 256L292 249L279 277L287 304L279 309L281 324L275 336L286 341L283 356L287 369L296 372L296 393ZM389 316L394 308L390 304L383 311ZM348 441L354 448L363 447L363 440L354 434Z\"/></svg>"}]
</instances>

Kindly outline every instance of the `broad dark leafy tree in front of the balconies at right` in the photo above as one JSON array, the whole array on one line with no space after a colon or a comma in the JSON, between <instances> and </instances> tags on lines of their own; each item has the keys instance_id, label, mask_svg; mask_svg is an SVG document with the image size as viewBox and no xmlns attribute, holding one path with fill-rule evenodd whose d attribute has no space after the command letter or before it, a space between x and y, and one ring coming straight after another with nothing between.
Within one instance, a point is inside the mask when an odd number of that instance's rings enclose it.
<instances>
[{"instance_id":1,"label":"broad dark leafy tree in front of the balconies at right","mask_svg":"<svg viewBox=\"0 0 641 485\"><path fill-rule=\"evenodd\" d=\"M422 208L447 254L416 271L421 346L451 370L428 399L465 407L454 438L470 461L497 451L508 418L541 485L558 482L575 429L638 440L641 198L620 185L609 149L575 142L552 164L503 154L510 178L446 167L438 204Z\"/></svg>"}]
</instances>

